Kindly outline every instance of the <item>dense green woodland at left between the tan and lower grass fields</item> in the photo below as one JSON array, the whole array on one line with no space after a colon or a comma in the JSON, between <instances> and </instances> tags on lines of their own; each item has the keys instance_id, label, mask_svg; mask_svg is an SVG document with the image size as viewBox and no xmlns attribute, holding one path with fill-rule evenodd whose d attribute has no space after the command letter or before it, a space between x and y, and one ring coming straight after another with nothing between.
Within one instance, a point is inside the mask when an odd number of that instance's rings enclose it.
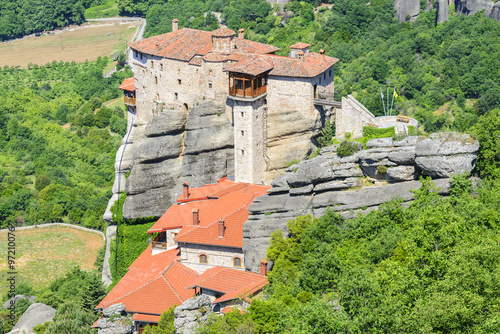
<instances>
[{"instance_id":1,"label":"dense green woodland at left between the tan and lower grass fields","mask_svg":"<svg viewBox=\"0 0 500 334\"><path fill-rule=\"evenodd\" d=\"M130 71L103 78L106 59L0 70L0 221L68 221L101 228L127 120L121 96Z\"/></svg>"}]
</instances>

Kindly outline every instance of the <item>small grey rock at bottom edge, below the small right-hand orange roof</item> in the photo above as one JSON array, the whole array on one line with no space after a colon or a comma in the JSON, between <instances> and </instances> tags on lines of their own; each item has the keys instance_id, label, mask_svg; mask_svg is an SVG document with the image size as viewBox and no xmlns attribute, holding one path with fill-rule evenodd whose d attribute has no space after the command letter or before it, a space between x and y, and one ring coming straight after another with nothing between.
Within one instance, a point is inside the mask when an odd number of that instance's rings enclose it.
<instances>
[{"instance_id":1,"label":"small grey rock at bottom edge, below the small right-hand orange roof","mask_svg":"<svg viewBox=\"0 0 500 334\"><path fill-rule=\"evenodd\" d=\"M199 325L205 323L212 313L212 303L208 296L188 299L175 308L175 330L177 333L194 334Z\"/></svg>"}]
</instances>

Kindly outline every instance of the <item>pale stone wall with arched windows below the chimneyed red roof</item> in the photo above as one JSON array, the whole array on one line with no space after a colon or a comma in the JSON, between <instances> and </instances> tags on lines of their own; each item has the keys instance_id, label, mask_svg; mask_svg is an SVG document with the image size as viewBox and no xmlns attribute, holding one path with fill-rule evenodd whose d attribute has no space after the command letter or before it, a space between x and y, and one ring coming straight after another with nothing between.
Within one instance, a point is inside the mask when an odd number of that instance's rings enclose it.
<instances>
[{"instance_id":1,"label":"pale stone wall with arched windows below the chimneyed red roof","mask_svg":"<svg viewBox=\"0 0 500 334\"><path fill-rule=\"evenodd\" d=\"M206 264L200 263L200 255L202 254L207 256ZM235 257L239 257L243 264L245 257L241 248L181 244L181 263L199 273L216 266L243 270L243 266L233 267Z\"/></svg>"}]
</instances>

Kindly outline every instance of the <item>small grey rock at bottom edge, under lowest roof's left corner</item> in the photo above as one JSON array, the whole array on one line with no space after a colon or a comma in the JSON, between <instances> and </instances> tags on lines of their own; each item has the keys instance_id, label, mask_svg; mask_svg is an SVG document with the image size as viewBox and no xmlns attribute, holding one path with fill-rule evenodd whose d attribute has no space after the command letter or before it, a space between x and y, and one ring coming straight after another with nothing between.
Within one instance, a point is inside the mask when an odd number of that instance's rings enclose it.
<instances>
[{"instance_id":1,"label":"small grey rock at bottom edge, under lowest roof's left corner","mask_svg":"<svg viewBox=\"0 0 500 334\"><path fill-rule=\"evenodd\" d=\"M102 310L103 317L97 321L98 334L132 334L133 324L125 305L114 304Z\"/></svg>"}]
</instances>

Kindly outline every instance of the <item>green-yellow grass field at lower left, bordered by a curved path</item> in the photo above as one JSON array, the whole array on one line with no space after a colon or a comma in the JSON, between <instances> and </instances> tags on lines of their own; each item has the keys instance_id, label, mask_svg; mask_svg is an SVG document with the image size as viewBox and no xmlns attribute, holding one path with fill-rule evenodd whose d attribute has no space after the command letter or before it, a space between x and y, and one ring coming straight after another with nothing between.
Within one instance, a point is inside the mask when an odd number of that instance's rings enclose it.
<instances>
[{"instance_id":1,"label":"green-yellow grass field at lower left, bordered by a curved path","mask_svg":"<svg viewBox=\"0 0 500 334\"><path fill-rule=\"evenodd\" d=\"M64 276L74 266L84 270L94 268L103 239L97 233L71 227L45 227L18 230L16 236L16 280L35 290L47 287L54 279ZM0 280L7 279L7 232L0 232ZM7 284L0 284L0 295Z\"/></svg>"}]
</instances>

